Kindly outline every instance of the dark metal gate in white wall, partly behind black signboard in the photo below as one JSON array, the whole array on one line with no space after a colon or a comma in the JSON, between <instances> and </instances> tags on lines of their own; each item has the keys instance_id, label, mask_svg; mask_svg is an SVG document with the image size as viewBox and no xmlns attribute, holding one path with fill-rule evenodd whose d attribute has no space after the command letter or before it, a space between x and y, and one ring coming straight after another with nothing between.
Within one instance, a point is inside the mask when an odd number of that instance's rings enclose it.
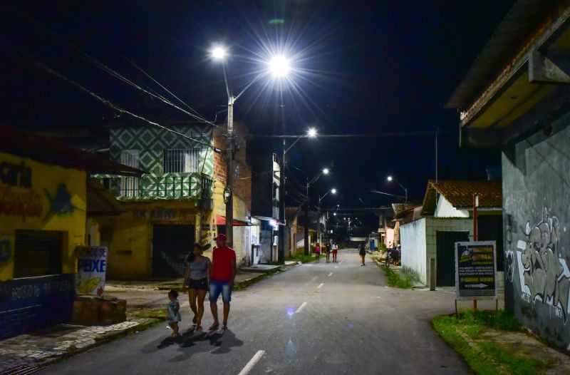
<instances>
[{"instance_id":1,"label":"dark metal gate in white wall, partly behind black signboard","mask_svg":"<svg viewBox=\"0 0 570 375\"><path fill-rule=\"evenodd\" d=\"M455 285L455 242L469 241L469 232L436 232L438 287Z\"/></svg>"}]
</instances>

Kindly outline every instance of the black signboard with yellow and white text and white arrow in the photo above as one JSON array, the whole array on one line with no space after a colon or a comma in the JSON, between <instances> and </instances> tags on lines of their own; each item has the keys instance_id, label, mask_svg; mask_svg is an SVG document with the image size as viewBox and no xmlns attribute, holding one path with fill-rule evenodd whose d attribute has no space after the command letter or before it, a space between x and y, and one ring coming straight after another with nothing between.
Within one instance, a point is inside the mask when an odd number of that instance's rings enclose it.
<instances>
[{"instance_id":1,"label":"black signboard with yellow and white text and white arrow","mask_svg":"<svg viewBox=\"0 0 570 375\"><path fill-rule=\"evenodd\" d=\"M494 241L455 242L455 296L497 298L497 249Z\"/></svg>"}]
</instances>

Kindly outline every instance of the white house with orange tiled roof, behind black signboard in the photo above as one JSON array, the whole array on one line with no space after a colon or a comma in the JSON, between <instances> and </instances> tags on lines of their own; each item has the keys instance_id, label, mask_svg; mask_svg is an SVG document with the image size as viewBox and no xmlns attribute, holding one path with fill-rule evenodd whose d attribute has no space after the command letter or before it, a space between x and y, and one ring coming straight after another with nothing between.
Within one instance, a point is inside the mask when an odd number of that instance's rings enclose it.
<instances>
[{"instance_id":1,"label":"white house with orange tiled roof, behind black signboard","mask_svg":"<svg viewBox=\"0 0 570 375\"><path fill-rule=\"evenodd\" d=\"M473 239L473 205L477 197L477 240L496 241L502 248L502 192L500 181L430 180L423 204L402 207L396 217L410 217L400 224L402 265L414 269L420 281L430 284L430 258L435 259L437 287L455 285L455 242ZM396 208L396 207L395 207ZM408 214L406 214L408 212ZM502 271L503 257L497 255ZM502 279L497 277L497 279Z\"/></svg>"}]
</instances>

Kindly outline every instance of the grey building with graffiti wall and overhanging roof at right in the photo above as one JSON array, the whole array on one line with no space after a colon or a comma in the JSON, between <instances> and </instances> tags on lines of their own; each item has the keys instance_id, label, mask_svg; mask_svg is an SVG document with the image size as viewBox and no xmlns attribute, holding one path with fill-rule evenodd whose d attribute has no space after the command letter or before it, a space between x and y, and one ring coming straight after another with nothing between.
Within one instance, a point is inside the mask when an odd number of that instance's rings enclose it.
<instances>
[{"instance_id":1,"label":"grey building with graffiti wall and overhanging roof at right","mask_svg":"<svg viewBox=\"0 0 570 375\"><path fill-rule=\"evenodd\" d=\"M570 344L570 4L517 1L447 102L461 144L502 150L505 304Z\"/></svg>"}]
</instances>

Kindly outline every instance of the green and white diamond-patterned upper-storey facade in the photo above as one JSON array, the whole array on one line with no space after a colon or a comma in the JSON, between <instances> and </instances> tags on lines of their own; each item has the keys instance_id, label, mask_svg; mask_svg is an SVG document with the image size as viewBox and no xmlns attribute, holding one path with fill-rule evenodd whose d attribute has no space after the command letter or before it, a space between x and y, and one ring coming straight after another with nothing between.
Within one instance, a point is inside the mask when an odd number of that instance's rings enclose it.
<instances>
[{"instance_id":1,"label":"green and white diamond-patterned upper-storey facade","mask_svg":"<svg viewBox=\"0 0 570 375\"><path fill-rule=\"evenodd\" d=\"M211 125L168 125L168 128L204 143L213 143ZM163 173L164 150L200 148L198 173ZM207 146L152 125L123 125L110 130L110 159L121 163L121 151L138 150L138 168L146 172L136 183L136 193L122 193L115 179L115 192L125 200L196 199L202 195L202 175L214 175L214 154ZM101 176L103 177L103 176ZM121 182L123 181L123 182ZM128 182L130 183L130 182ZM211 192L208 192L211 195Z\"/></svg>"}]
</instances>

